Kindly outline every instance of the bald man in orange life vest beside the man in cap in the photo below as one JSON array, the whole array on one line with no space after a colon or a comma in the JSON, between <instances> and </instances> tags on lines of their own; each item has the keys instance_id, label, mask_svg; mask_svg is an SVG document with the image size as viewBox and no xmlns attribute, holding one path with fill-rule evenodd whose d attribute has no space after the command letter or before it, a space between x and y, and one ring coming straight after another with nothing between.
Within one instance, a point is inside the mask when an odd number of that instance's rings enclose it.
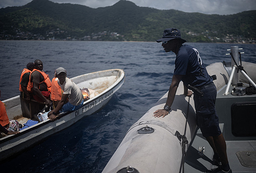
<instances>
[{"instance_id":1,"label":"bald man in orange life vest beside the man in cap","mask_svg":"<svg viewBox=\"0 0 256 173\"><path fill-rule=\"evenodd\" d=\"M50 106L51 86L52 82L49 76L43 72L43 62L35 60L35 69L29 77L28 92L33 92L33 98L37 102Z\"/></svg>"}]
</instances>

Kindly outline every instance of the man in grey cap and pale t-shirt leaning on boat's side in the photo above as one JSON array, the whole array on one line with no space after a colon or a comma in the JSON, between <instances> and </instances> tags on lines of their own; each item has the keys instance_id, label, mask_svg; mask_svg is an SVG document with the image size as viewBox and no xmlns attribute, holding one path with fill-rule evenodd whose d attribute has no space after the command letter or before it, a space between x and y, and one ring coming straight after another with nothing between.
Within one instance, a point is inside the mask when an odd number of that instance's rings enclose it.
<instances>
[{"instance_id":1,"label":"man in grey cap and pale t-shirt leaning on boat's side","mask_svg":"<svg viewBox=\"0 0 256 173\"><path fill-rule=\"evenodd\" d=\"M55 120L55 115L58 113L76 111L80 109L84 103L82 91L73 81L67 78L67 72L63 67L56 69L56 76L58 77L58 84L61 86L63 94L56 108L48 113L50 120ZM65 103L67 98L69 101Z\"/></svg>"}]
</instances>

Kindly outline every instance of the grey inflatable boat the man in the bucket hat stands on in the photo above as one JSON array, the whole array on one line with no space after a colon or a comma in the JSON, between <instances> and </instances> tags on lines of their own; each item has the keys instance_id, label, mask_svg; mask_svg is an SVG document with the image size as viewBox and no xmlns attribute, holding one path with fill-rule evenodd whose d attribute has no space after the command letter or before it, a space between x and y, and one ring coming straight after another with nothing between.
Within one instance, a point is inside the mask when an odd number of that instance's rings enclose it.
<instances>
[{"instance_id":1,"label":"grey inflatable boat the man in the bucket hat stands on","mask_svg":"<svg viewBox=\"0 0 256 173\"><path fill-rule=\"evenodd\" d=\"M231 48L236 62L238 51L238 47ZM256 64L241 65L247 75L241 70L236 73L233 60L230 66L217 62L206 68L209 75L217 76L216 110L230 167L233 172L251 173L256 172L256 94L234 91L249 86L249 82L256 88ZM238 82L243 87L238 87ZM193 96L184 96L182 83L169 115L153 117L154 111L163 109L167 94L130 127L103 173L198 173L217 168L212 161L213 150L197 128Z\"/></svg>"}]
</instances>

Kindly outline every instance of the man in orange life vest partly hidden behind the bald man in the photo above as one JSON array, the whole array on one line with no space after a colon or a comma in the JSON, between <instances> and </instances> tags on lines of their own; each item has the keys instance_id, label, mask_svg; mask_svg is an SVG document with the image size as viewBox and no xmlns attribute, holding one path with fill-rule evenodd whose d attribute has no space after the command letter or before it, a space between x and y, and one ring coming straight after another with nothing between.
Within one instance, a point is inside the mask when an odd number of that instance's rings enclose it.
<instances>
[{"instance_id":1,"label":"man in orange life vest partly hidden behind the bald man","mask_svg":"<svg viewBox=\"0 0 256 173\"><path fill-rule=\"evenodd\" d=\"M20 75L20 97L22 99L26 98L26 100L30 100L30 95L27 91L28 81L31 71L35 68L34 62L28 62L27 68L22 70L22 74Z\"/></svg>"}]
</instances>

